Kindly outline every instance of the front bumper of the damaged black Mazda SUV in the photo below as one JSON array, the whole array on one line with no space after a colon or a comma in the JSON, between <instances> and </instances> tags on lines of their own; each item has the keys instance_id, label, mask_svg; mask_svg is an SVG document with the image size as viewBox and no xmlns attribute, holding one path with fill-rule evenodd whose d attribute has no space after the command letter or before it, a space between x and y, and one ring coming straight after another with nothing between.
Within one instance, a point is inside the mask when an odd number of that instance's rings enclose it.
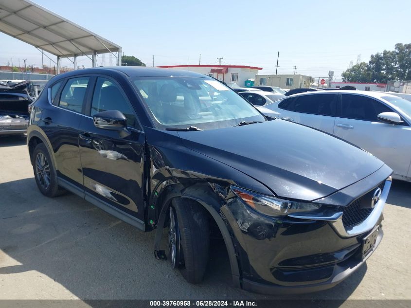
<instances>
[{"instance_id":1,"label":"front bumper of the damaged black Mazda SUV","mask_svg":"<svg viewBox=\"0 0 411 308\"><path fill-rule=\"evenodd\" d=\"M355 272L375 251L383 232L381 221L391 181L362 227L336 227L340 215L268 217L238 198L221 208L232 233L242 273L242 287L257 293L307 293L334 287ZM373 213L371 212L371 213ZM333 221L334 219L334 221ZM362 256L362 243L374 227L375 245ZM360 231L360 232L358 232Z\"/></svg>"}]
</instances>

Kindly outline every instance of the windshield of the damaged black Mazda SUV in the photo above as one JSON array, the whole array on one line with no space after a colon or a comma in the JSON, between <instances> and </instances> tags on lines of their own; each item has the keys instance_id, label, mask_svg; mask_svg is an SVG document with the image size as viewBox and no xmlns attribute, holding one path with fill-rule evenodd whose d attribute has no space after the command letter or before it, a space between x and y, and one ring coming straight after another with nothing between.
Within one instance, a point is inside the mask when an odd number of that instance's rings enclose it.
<instances>
[{"instance_id":1,"label":"windshield of the damaged black Mazda SUV","mask_svg":"<svg viewBox=\"0 0 411 308\"><path fill-rule=\"evenodd\" d=\"M241 96L212 78L132 78L157 128L232 127L242 121L266 121Z\"/></svg>"}]
</instances>

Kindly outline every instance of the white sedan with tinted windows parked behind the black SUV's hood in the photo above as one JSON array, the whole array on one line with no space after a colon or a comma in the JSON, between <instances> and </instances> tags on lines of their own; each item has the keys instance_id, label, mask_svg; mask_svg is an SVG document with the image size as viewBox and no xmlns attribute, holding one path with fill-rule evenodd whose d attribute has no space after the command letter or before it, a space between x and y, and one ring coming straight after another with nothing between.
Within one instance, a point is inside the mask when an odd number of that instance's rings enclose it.
<instances>
[{"instance_id":1,"label":"white sedan with tinted windows parked behind the black SUV's hood","mask_svg":"<svg viewBox=\"0 0 411 308\"><path fill-rule=\"evenodd\" d=\"M393 168L394 178L411 181L409 101L386 92L336 90L293 95L265 107L360 146Z\"/></svg>"}]
</instances>

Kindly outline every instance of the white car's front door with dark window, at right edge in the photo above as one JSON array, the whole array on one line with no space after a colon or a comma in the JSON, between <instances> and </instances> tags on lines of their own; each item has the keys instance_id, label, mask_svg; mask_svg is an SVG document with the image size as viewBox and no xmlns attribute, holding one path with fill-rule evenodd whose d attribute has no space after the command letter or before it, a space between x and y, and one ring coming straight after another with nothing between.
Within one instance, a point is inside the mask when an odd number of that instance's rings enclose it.
<instances>
[{"instance_id":1,"label":"white car's front door with dark window, at right edge","mask_svg":"<svg viewBox=\"0 0 411 308\"><path fill-rule=\"evenodd\" d=\"M383 123L377 115L394 112L374 98L341 94L334 135L347 140L388 164L395 174L406 176L410 167L410 127Z\"/></svg>"}]
</instances>

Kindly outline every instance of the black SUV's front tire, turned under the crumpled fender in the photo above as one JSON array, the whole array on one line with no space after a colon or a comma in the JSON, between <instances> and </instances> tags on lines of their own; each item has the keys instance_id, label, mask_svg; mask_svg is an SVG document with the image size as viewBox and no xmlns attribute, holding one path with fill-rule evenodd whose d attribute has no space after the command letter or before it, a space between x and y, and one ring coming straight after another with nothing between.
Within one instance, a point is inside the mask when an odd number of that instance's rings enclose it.
<instances>
[{"instance_id":1,"label":"black SUV's front tire, turned under the crumpled fender","mask_svg":"<svg viewBox=\"0 0 411 308\"><path fill-rule=\"evenodd\" d=\"M210 231L206 209L197 202L176 198L172 200L170 211L176 213L179 229L177 246L178 264L175 268L190 283L203 280L210 250ZM172 255L170 255L173 267Z\"/></svg>"}]
</instances>

